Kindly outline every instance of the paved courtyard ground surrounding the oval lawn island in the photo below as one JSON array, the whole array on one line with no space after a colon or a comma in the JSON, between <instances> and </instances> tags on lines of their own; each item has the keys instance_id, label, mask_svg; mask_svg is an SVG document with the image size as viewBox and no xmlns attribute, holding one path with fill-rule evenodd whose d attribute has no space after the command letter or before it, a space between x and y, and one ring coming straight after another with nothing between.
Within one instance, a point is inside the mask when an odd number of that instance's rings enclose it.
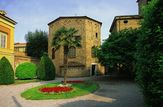
<instances>
[{"instance_id":1,"label":"paved courtyard ground surrounding the oval lawn island","mask_svg":"<svg viewBox=\"0 0 163 107\"><path fill-rule=\"evenodd\" d=\"M55 81L60 80L57 78ZM135 83L120 80L97 82L100 89L95 93L65 100L25 100L20 96L24 90L47 82L1 85L0 107L143 107L143 97Z\"/></svg>"}]
</instances>

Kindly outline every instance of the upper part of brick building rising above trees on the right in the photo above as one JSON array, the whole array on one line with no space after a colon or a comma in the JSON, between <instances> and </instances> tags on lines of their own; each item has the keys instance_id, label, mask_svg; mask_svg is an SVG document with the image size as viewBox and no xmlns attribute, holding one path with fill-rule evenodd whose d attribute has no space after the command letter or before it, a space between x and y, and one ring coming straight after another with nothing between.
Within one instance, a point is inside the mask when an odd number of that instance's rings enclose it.
<instances>
[{"instance_id":1,"label":"upper part of brick building rising above trees on the right","mask_svg":"<svg viewBox=\"0 0 163 107\"><path fill-rule=\"evenodd\" d=\"M110 27L110 32L119 32L128 28L139 28L141 19L142 17L139 15L115 16Z\"/></svg>"}]
</instances>

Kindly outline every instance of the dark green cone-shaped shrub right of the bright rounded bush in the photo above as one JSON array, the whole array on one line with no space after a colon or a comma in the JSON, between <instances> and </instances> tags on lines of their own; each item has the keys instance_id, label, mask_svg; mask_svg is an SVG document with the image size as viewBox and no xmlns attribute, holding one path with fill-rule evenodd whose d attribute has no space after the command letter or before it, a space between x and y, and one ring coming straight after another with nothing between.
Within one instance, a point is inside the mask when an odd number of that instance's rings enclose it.
<instances>
[{"instance_id":1,"label":"dark green cone-shaped shrub right of the bright rounded bush","mask_svg":"<svg viewBox=\"0 0 163 107\"><path fill-rule=\"evenodd\" d=\"M43 54L41 57L38 69L37 77L40 80L53 80L55 79L55 66L47 54Z\"/></svg>"}]
</instances>

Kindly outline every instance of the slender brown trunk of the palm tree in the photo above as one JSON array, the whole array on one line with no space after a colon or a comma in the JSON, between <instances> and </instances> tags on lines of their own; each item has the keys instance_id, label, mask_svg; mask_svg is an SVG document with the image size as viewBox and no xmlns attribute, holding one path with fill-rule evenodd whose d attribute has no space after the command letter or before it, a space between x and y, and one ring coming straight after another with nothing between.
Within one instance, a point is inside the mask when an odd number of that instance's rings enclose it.
<instances>
[{"instance_id":1,"label":"slender brown trunk of the palm tree","mask_svg":"<svg viewBox=\"0 0 163 107\"><path fill-rule=\"evenodd\" d=\"M67 84L67 69L68 69L68 46L64 46L64 81Z\"/></svg>"}]
</instances>

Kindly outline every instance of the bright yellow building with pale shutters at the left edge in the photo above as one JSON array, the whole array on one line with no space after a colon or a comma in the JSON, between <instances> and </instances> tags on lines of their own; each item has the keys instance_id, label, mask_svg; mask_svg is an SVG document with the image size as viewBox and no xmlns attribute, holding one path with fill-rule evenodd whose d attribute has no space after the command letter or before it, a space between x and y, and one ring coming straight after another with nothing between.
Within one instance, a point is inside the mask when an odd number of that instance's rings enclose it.
<instances>
[{"instance_id":1,"label":"bright yellow building with pale shutters at the left edge","mask_svg":"<svg viewBox=\"0 0 163 107\"><path fill-rule=\"evenodd\" d=\"M5 56L14 66L14 27L16 22L0 11L0 58Z\"/></svg>"}]
</instances>

